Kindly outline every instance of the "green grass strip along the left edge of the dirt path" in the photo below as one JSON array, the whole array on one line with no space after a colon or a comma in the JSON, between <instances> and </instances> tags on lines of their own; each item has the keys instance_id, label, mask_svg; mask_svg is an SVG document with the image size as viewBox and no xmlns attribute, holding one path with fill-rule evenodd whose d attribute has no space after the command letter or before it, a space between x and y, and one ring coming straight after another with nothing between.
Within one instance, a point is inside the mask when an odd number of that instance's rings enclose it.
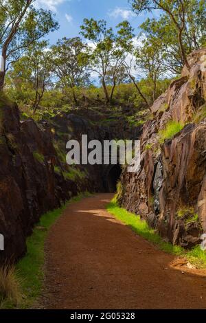
<instances>
[{"instance_id":1,"label":"green grass strip along the left edge of the dirt path","mask_svg":"<svg viewBox=\"0 0 206 323\"><path fill-rule=\"evenodd\" d=\"M77 202L83 197L89 196L91 196L91 194L85 192L84 194L79 194L77 197L73 197L68 203ZM34 227L32 236L27 238L27 253L19 260L19 263L17 263L15 267L16 279L21 282L21 294L23 295L23 301L21 304L18 304L18 308L20 309L31 308L32 304L34 304L41 295L44 278L45 238L47 237L50 227L60 217L67 205L62 206L62 208L58 208L57 210L47 212L47 214L41 216L39 223ZM10 301L5 301L3 302L3 308L12 309L14 308L14 304Z\"/></svg>"}]
</instances>

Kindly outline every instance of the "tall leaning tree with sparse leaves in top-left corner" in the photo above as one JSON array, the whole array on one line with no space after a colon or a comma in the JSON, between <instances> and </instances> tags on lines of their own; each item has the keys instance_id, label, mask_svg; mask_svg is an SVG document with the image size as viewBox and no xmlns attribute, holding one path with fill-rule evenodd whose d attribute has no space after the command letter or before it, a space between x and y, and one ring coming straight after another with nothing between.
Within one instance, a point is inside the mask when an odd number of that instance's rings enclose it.
<instances>
[{"instance_id":1,"label":"tall leaning tree with sparse leaves in top-left corner","mask_svg":"<svg viewBox=\"0 0 206 323\"><path fill-rule=\"evenodd\" d=\"M3 71L0 71L0 90L10 64L21 58L36 41L58 28L52 12L37 10L35 0L0 0L0 46Z\"/></svg>"}]
</instances>

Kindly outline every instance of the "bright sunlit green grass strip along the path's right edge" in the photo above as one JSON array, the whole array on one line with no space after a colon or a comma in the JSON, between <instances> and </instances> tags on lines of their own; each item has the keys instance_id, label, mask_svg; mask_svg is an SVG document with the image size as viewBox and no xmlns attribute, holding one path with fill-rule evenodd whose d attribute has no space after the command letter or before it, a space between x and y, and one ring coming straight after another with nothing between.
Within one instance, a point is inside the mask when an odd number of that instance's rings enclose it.
<instances>
[{"instance_id":1,"label":"bright sunlit green grass strip along the path's right edge","mask_svg":"<svg viewBox=\"0 0 206 323\"><path fill-rule=\"evenodd\" d=\"M188 251L183 247L172 245L172 243L163 241L161 236L159 236L155 230L149 227L146 221L141 220L140 216L120 208L115 202L115 199L113 199L113 201L107 205L107 210L119 221L122 221L122 223L128 225L128 227L130 227L136 234L142 236L147 241L150 241L150 243L157 245L157 247L163 250L163 252L187 258L187 260L194 264L197 268L206 268L206 252L201 250L200 246L196 246Z\"/></svg>"}]
</instances>

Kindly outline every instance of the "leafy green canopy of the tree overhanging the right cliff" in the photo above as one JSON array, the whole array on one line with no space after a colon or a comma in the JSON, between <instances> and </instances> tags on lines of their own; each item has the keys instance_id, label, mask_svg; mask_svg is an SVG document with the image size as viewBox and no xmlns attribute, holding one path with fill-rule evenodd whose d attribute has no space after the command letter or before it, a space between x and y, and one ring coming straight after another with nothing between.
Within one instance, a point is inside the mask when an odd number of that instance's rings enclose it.
<instances>
[{"instance_id":1,"label":"leafy green canopy of the tree overhanging the right cliff","mask_svg":"<svg viewBox=\"0 0 206 323\"><path fill-rule=\"evenodd\" d=\"M161 12L159 19L147 19L141 25L142 33L152 48L154 43L159 47L161 66L180 74L183 65L189 65L187 55L205 45L205 0L129 1L137 14L151 10Z\"/></svg>"}]
</instances>

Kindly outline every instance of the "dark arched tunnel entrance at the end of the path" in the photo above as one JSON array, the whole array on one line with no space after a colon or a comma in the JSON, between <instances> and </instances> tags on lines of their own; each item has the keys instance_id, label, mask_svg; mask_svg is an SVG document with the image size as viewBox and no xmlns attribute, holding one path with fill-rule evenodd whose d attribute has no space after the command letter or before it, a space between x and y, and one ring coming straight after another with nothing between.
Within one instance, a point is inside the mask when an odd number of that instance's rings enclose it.
<instances>
[{"instance_id":1,"label":"dark arched tunnel entrance at the end of the path","mask_svg":"<svg viewBox=\"0 0 206 323\"><path fill-rule=\"evenodd\" d=\"M104 177L104 183L106 192L114 193L117 188L117 181L122 173L122 169L119 164L109 166L106 171L106 176Z\"/></svg>"}]
</instances>

